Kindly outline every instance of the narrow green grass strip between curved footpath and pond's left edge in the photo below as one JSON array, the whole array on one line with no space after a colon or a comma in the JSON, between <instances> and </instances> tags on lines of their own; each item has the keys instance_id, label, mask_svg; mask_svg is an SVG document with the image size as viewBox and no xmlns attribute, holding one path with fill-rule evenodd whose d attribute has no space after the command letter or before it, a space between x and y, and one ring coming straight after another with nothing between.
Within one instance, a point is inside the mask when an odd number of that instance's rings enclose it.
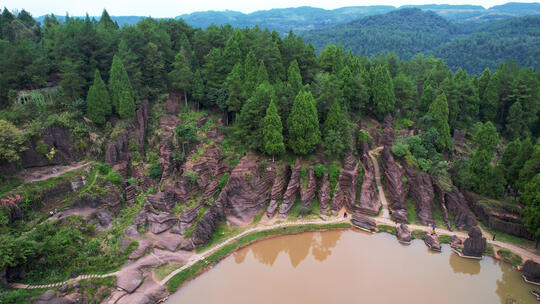
<instances>
[{"instance_id":1,"label":"narrow green grass strip between curved footpath and pond's left edge","mask_svg":"<svg viewBox=\"0 0 540 304\"><path fill-rule=\"evenodd\" d=\"M189 281L196 275L202 273L209 266L213 265L214 263L218 262L222 258L226 257L231 252L243 246L251 244L252 242L258 239L269 237L272 235L298 234L298 233L303 233L307 231L350 228L350 227L351 225L349 223L335 223L335 224L324 224L324 225L290 226L290 227L277 228L273 230L255 232L255 233L243 236L240 239L223 246L218 251L211 254L204 260L201 260L195 263L193 266L189 267L188 269L185 269L184 271L176 274L167 283L167 288L170 292L176 291L182 284Z\"/></svg>"}]
</instances>

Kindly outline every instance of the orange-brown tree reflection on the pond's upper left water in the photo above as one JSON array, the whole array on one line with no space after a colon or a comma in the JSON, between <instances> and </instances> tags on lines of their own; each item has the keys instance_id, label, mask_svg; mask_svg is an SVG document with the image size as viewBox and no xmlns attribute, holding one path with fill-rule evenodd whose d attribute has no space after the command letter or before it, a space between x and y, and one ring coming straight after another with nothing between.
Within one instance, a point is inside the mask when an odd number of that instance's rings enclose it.
<instances>
[{"instance_id":1,"label":"orange-brown tree reflection on the pond's upper left water","mask_svg":"<svg viewBox=\"0 0 540 304\"><path fill-rule=\"evenodd\" d=\"M272 266L280 252L289 255L291 265L297 267L305 260L309 251L317 261L324 261L332 254L341 238L341 231L329 231L323 233L304 233L295 236L284 236L267 242L259 242L234 254L236 263L242 263L249 251L262 264Z\"/></svg>"}]
</instances>

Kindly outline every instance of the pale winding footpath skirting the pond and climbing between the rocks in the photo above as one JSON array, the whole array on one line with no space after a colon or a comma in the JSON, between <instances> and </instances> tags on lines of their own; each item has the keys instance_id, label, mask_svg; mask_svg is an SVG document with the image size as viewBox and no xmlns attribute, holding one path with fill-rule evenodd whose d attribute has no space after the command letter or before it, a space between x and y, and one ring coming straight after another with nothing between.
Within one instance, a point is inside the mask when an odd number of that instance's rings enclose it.
<instances>
[{"instance_id":1,"label":"pale winding footpath skirting the pond and climbing between the rocks","mask_svg":"<svg viewBox=\"0 0 540 304\"><path fill-rule=\"evenodd\" d=\"M394 222L390 218L390 213L389 213L389 210L388 210L388 202L386 200L386 196L384 194L384 188L383 188L382 183L381 183L381 175L380 175L380 171L379 171L379 162L377 161L377 158L376 158L376 154L381 150L381 148L382 147L379 147L379 148L369 152L369 157L371 158L371 160L373 162L373 165L374 165L375 181L377 183L377 189L379 190L379 199L380 199L381 205L382 205L382 207L381 207L382 208L381 215L378 216L378 217L375 217L374 219L375 219L375 221L377 222L378 225L387 225L387 226L397 227L399 224ZM242 237L244 237L246 235L249 235L251 233L267 231L267 230L273 230L273 229L277 229L277 228L280 228L280 227L293 227L293 226L305 226L305 225L325 225L325 224L345 223L345 222L350 222L350 220L348 218L337 217L337 218L334 218L332 220L326 220L326 221L325 220L315 220L315 221L284 222L284 223L268 225L268 226L264 225L264 224L259 224L258 226L255 226L253 228L249 228L247 230L244 230L241 233L224 240L223 242L217 244L216 246L214 246L212 248L209 248L208 250L204 251L203 253L193 255L186 264L184 264L182 267L180 267L180 268L174 270L173 272L171 272L163 280L161 280L159 282L159 284L163 285L163 286L166 285L167 282L172 277L174 277L176 274L190 268L195 263L204 260L205 258L210 256L211 254L213 254L217 250L223 248L224 246L230 244L231 242L234 242L234 241L236 241L236 240L238 240L238 239L240 239L240 238L242 238ZM421 225L415 225L415 224L408 224L407 226L411 230L421 230L421 231L424 231L424 232L431 231L431 228L428 227L428 226L421 226ZM467 238L468 237L467 233L459 232L459 231L449 231L449 230L446 230L446 229L437 228L436 232L439 235L448 235L448 236L457 235L460 238ZM483 231L483 233L484 233L484 231ZM523 257L526 257L527 259L530 259L530 260L533 260L535 262L540 263L540 256L538 256L538 255L536 255L536 254L534 254L532 252L529 252L529 251L527 251L527 250L525 250L523 248L520 248L518 246L508 244L508 243L502 243L502 242L499 242L499 241L492 241L492 240L490 240L490 238L487 238L487 242L489 244L493 244L493 245L499 246L501 248L509 249L509 250L511 250L513 252L516 252L516 253L520 254ZM116 276L121 271L122 271L122 269L118 270L118 271L115 271L115 272L107 273L107 274L80 275L80 276L78 276L76 278L73 278L73 279L70 279L70 280L67 280L67 281L64 281L64 282L47 284L47 285L25 285L25 284L13 283L13 284L10 284L10 286L12 288L28 288L28 289L53 288L53 287L60 287L60 286L62 286L64 284L68 284L68 283L74 283L74 282L77 282L77 281L80 281L80 280L87 280L87 279L94 279L94 278L106 278L106 277Z\"/></svg>"}]
</instances>

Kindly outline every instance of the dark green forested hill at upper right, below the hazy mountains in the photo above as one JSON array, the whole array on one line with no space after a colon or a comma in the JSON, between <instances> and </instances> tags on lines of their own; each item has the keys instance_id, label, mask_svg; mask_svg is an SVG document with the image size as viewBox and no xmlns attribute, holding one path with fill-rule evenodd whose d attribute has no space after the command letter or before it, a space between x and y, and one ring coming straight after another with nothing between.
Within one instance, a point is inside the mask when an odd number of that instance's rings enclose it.
<instances>
[{"instance_id":1,"label":"dark green forested hill at upper right, below the hazy mountains","mask_svg":"<svg viewBox=\"0 0 540 304\"><path fill-rule=\"evenodd\" d=\"M404 59L417 53L444 59L449 68L479 74L504 60L540 68L540 15L494 21L469 27L452 23L433 12L417 8L392 11L302 37L320 51L326 44L343 44L359 55L395 52Z\"/></svg>"}]
</instances>

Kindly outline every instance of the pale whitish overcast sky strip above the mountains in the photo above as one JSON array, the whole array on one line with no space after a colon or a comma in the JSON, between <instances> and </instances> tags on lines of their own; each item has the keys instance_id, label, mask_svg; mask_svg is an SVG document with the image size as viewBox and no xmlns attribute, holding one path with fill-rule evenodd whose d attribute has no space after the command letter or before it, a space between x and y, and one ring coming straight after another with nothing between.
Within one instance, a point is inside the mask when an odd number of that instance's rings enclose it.
<instances>
[{"instance_id":1,"label":"pale whitish overcast sky strip above the mountains","mask_svg":"<svg viewBox=\"0 0 540 304\"><path fill-rule=\"evenodd\" d=\"M250 13L257 10L271 8L286 8L298 6L313 6L324 9L334 9L344 6L363 5L393 5L405 4L474 4L485 8L504 4L512 0L458 0L437 2L433 0L273 0L273 1L245 1L245 0L0 0L0 7L9 10L25 9L32 16L37 17L45 14L82 16L88 13L90 16L99 16L104 8L113 16L152 16L152 17L176 17L181 14L208 10L234 10ZM538 2L527 0L514 0L519 2Z\"/></svg>"}]
</instances>

